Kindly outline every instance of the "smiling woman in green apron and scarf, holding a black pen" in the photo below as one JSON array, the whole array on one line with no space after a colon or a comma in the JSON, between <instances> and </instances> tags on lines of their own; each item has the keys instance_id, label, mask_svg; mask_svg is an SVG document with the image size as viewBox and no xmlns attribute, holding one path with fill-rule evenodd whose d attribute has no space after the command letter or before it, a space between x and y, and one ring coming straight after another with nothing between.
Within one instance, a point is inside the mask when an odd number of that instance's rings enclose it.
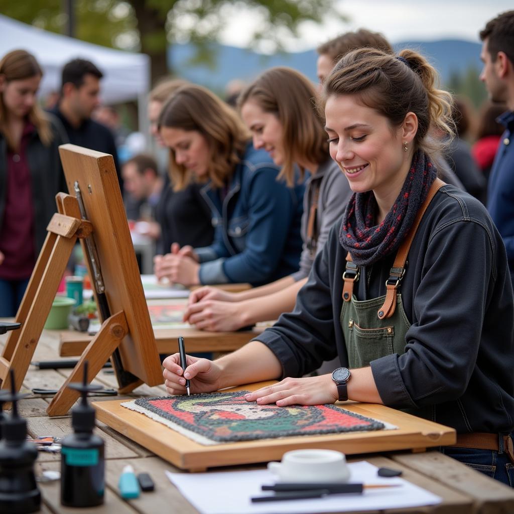
<instances>
[{"instance_id":1,"label":"smiling woman in green apron and scarf, holding a black pen","mask_svg":"<svg viewBox=\"0 0 514 514\"><path fill-rule=\"evenodd\" d=\"M342 222L292 313L233 354L188 358L183 375L193 393L282 379L245 396L260 405L407 410L455 428L441 451L513 484L507 257L480 201L436 178L428 135L450 132L451 97L435 78L410 50L339 61L323 91L331 154L354 190ZM304 377L336 355L343 368ZM177 356L163 364L168 391L183 394Z\"/></svg>"}]
</instances>

